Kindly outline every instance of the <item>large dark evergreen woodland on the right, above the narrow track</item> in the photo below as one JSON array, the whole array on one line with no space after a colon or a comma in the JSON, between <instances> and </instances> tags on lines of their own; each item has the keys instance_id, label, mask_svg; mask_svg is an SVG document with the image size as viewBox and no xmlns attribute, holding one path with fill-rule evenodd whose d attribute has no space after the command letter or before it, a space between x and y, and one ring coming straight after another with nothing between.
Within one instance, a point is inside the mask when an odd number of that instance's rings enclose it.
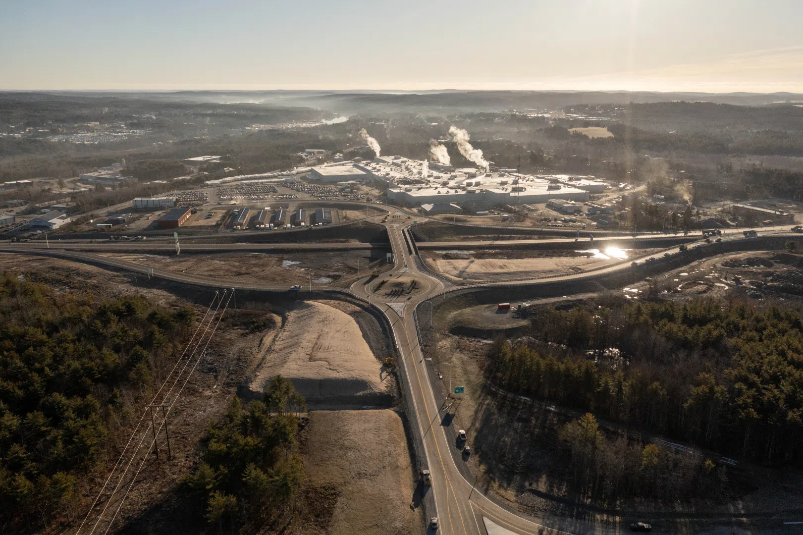
<instances>
[{"instance_id":1,"label":"large dark evergreen woodland on the right, above the narrow track","mask_svg":"<svg viewBox=\"0 0 803 535\"><path fill-rule=\"evenodd\" d=\"M726 455L803 463L803 317L703 299L541 312L497 341L506 390Z\"/></svg>"}]
</instances>

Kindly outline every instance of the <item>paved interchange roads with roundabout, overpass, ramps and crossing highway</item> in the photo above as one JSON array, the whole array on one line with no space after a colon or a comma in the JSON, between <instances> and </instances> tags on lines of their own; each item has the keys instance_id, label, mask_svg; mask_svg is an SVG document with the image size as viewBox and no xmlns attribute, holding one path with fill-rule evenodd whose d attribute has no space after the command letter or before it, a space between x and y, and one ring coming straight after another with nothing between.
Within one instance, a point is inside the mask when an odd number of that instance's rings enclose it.
<instances>
[{"instance_id":1,"label":"paved interchange roads with roundabout, overpass, ramps and crossing highway","mask_svg":"<svg viewBox=\"0 0 803 535\"><path fill-rule=\"evenodd\" d=\"M391 206L387 206L392 208ZM393 218L393 215L397 215ZM427 489L424 498L425 509L430 517L438 517L438 533L448 535L486 535L486 522L491 521L502 529L507 529L509 533L520 533L521 535L544 535L544 533L618 533L622 529L618 525L603 524L593 521L576 520L568 517L551 517L548 520L526 517L520 512L499 504L496 500L485 496L483 492L476 489L471 483L471 474L467 468L462 466L462 459L456 455L458 451L455 447L456 431L450 425L442 425L444 417L448 414L448 400L435 394L430 372L426 368L422 348L418 343L418 327L415 322L414 311L418 304L431 296L443 292L451 292L465 287L453 287L450 284L433 276L429 272L419 269L418 259L416 258L414 244L411 243L409 236L412 219L406 219L406 212L402 210L391 210L391 217L385 224L388 230L390 247L393 249L394 267L391 272L383 274L383 278L391 276L412 276L421 285L421 290L411 296L389 298L369 292L369 287L365 285L367 277L358 280L350 288L353 295L369 301L384 312L393 328L393 336L399 353L399 367L401 372L402 387L411 411L411 425L414 426L414 442L421 448L426 468L432 474L432 485ZM768 234L783 235L789 232L789 226L778 227L777 229L762 229ZM791 233L790 233L791 234ZM798 235L799 236L799 235ZM677 235L669 235L668 238L678 238ZM680 237L683 237L680 235ZM636 238L659 239L655 235L637 236ZM723 240L744 240L749 239L741 235L738 231L726 231L722 235ZM616 240L634 239L629 236L618 236ZM702 236L689 236L689 239L702 239ZM524 243L573 243L573 239L551 239L551 240L516 240ZM595 239L594 243L602 241ZM466 244L466 242L456 242ZM487 245L487 242L476 242ZM509 242L505 242L509 243ZM287 250L287 249L320 249L322 246L332 246L332 250L344 248L370 248L371 244L357 243L296 243L296 244L256 244L256 243L210 243L210 244L187 244L182 245L182 251L259 251L259 250ZM702 244L701 244L702 245ZM419 247L424 247L422 243ZM0 247L0 251L52 255L60 258L74 259L80 262L104 264L108 266L126 269L131 272L149 273L149 267L136 262L129 262L122 259L113 259L108 256L96 254L92 251L164 251L173 248L172 243L156 242L135 242L135 243L50 243L47 249L44 243L12 243ZM452 247L450 243L438 243L438 247ZM472 246L472 247L479 247ZM578 247L592 248L588 239L581 239ZM693 245L690 245L693 247ZM704 246L703 246L704 247ZM659 253L653 253L658 257L668 253L669 255L682 254L678 246L666 247ZM478 284L472 288L487 288L499 285L537 285L552 283L565 280L584 280L598 276L607 276L614 272L627 269L634 269L631 263L643 262L646 258L627 259L620 263L610 264L601 269L580 272L566 276L552 276L539 279L524 279L517 281L501 281L498 283ZM185 273L171 272L165 269L152 268L150 273L166 280L174 280L186 284L198 284L214 288L238 288L243 290L277 290L287 289L270 284L243 284L234 279L211 279L203 276L193 276ZM319 287L318 289L328 289ZM339 292L349 292L338 290ZM414 416L414 418L412 418ZM491 535L497 535L496 532Z\"/></svg>"}]
</instances>

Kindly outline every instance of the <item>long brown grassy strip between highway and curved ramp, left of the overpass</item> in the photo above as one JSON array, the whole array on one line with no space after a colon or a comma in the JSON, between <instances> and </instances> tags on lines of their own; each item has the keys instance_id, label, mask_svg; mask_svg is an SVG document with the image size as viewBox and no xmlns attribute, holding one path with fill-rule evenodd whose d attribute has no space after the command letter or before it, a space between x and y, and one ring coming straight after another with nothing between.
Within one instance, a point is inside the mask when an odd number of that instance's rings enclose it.
<instances>
[{"instance_id":1,"label":"long brown grassy strip between highway and curved ramp, left of the overpass","mask_svg":"<svg viewBox=\"0 0 803 535\"><path fill-rule=\"evenodd\" d=\"M172 247L170 244L168 247ZM316 251L297 253L218 253L165 255L104 253L105 256L161 267L175 272L208 277L238 278L257 283L308 287L312 269L312 287L348 288L361 275L377 269L385 272L393 264L385 263L384 251Z\"/></svg>"}]
</instances>

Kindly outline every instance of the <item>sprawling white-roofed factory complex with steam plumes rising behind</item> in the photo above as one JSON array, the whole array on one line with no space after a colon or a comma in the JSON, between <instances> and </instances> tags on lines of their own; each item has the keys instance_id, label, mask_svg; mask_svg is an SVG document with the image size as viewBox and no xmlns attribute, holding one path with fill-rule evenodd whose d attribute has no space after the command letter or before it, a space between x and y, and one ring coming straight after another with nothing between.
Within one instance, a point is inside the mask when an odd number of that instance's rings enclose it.
<instances>
[{"instance_id":1,"label":"sprawling white-roofed factory complex with steam plumes rising behind","mask_svg":"<svg viewBox=\"0 0 803 535\"><path fill-rule=\"evenodd\" d=\"M322 165L312 168L310 174L321 182L370 181L385 192L389 201L408 206L456 204L486 208L545 203L550 199L585 202L590 194L609 187L589 176L532 176L517 173L516 169L454 169L402 156Z\"/></svg>"}]
</instances>

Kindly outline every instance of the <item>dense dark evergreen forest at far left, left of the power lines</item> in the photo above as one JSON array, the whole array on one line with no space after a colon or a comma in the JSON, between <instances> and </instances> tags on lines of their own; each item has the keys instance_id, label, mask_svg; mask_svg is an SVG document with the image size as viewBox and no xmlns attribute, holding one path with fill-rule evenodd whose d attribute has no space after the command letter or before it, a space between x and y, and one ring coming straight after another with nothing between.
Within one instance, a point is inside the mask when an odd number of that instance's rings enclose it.
<instances>
[{"instance_id":1,"label":"dense dark evergreen forest at far left, left of the power lines","mask_svg":"<svg viewBox=\"0 0 803 535\"><path fill-rule=\"evenodd\" d=\"M191 308L0 276L0 533L75 518L81 484L193 323Z\"/></svg>"}]
</instances>

